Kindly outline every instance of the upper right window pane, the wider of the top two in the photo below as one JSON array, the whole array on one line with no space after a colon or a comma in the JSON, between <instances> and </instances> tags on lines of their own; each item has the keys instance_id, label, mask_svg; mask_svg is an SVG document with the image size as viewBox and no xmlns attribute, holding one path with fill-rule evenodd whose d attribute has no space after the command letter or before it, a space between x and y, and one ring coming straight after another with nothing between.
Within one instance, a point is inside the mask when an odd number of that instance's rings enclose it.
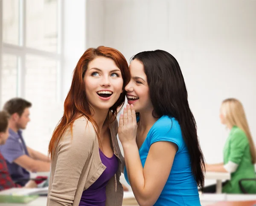
<instances>
[{"instance_id":1,"label":"upper right window pane, the wider of the top two","mask_svg":"<svg viewBox=\"0 0 256 206\"><path fill-rule=\"evenodd\" d=\"M26 46L57 52L57 0L26 0Z\"/></svg>"}]
</instances>

